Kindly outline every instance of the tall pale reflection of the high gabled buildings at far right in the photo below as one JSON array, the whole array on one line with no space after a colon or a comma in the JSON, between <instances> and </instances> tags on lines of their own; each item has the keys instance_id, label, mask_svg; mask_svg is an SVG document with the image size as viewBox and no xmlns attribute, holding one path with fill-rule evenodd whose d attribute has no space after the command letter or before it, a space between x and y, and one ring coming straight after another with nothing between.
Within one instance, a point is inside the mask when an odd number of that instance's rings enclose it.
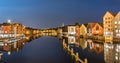
<instances>
[{"instance_id":1,"label":"tall pale reflection of the high gabled buildings at far right","mask_svg":"<svg viewBox=\"0 0 120 63\"><path fill-rule=\"evenodd\" d=\"M104 44L104 59L106 63L120 63L120 44Z\"/></svg>"}]
</instances>

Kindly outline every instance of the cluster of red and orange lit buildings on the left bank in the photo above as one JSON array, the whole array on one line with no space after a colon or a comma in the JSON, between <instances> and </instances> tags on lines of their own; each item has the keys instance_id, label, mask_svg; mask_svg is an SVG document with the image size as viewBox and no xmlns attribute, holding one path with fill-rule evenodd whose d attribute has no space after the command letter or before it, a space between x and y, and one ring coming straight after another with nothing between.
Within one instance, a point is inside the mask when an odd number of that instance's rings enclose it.
<instances>
[{"instance_id":1,"label":"cluster of red and orange lit buildings on the left bank","mask_svg":"<svg viewBox=\"0 0 120 63\"><path fill-rule=\"evenodd\" d=\"M23 34L25 26L20 23L12 23L11 21L0 24L1 34L14 34L14 28L16 28L16 34Z\"/></svg>"}]
</instances>

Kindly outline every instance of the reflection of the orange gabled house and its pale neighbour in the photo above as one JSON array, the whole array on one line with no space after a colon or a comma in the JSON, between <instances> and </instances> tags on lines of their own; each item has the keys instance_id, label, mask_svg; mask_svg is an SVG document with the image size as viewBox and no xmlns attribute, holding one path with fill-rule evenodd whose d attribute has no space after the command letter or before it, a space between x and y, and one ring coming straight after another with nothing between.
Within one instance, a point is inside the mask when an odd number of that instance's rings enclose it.
<instances>
[{"instance_id":1,"label":"reflection of the orange gabled house and its pale neighbour","mask_svg":"<svg viewBox=\"0 0 120 63\"><path fill-rule=\"evenodd\" d=\"M89 48L91 52L96 52L97 54L102 53L104 50L104 45L95 43L92 40L88 40Z\"/></svg>"}]
</instances>

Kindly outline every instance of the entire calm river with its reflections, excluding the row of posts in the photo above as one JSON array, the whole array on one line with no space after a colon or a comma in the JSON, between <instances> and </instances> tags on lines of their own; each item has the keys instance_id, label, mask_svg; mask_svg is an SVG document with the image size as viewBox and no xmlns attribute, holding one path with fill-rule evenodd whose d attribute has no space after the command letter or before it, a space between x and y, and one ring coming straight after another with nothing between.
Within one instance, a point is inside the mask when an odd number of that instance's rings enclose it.
<instances>
[{"instance_id":1,"label":"entire calm river with its reflections, excluding the row of posts","mask_svg":"<svg viewBox=\"0 0 120 63\"><path fill-rule=\"evenodd\" d=\"M79 58L88 63L120 63L119 44L97 43L93 40L74 36L28 37L21 41L0 46L1 63L76 63L75 59L63 48L68 43Z\"/></svg>"}]
</instances>

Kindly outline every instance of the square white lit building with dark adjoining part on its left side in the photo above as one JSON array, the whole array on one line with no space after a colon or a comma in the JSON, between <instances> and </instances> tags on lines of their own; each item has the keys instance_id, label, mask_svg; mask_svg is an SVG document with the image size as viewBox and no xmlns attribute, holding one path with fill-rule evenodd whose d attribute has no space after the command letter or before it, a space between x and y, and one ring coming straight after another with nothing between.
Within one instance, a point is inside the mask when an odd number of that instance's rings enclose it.
<instances>
[{"instance_id":1,"label":"square white lit building with dark adjoining part on its left side","mask_svg":"<svg viewBox=\"0 0 120 63\"><path fill-rule=\"evenodd\" d=\"M64 26L63 27L63 34L75 35L76 34L75 25Z\"/></svg>"}]
</instances>

